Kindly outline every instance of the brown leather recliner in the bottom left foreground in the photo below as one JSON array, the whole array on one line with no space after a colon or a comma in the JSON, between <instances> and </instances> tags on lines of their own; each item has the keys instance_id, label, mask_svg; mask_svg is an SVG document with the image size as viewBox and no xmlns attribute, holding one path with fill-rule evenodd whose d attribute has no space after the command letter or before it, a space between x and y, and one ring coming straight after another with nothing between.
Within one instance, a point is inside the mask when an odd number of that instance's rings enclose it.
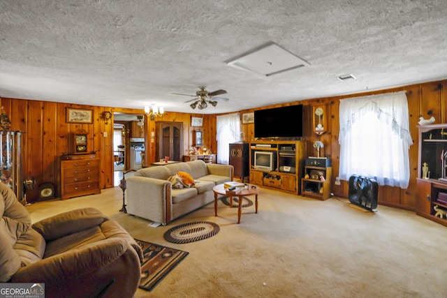
<instances>
[{"instance_id":1,"label":"brown leather recliner in the bottom left foreground","mask_svg":"<svg viewBox=\"0 0 447 298\"><path fill-rule=\"evenodd\" d=\"M0 282L45 283L45 297L133 297L142 251L94 208L31 225L27 209L0 183Z\"/></svg>"}]
</instances>

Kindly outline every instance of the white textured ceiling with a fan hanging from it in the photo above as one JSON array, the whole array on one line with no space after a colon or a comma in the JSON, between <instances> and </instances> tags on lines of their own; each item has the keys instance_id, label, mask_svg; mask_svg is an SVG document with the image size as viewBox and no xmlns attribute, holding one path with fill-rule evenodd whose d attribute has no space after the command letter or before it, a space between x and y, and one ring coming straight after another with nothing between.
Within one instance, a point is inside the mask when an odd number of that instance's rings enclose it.
<instances>
[{"instance_id":1,"label":"white textured ceiling with a fan hanging from it","mask_svg":"<svg viewBox=\"0 0 447 298\"><path fill-rule=\"evenodd\" d=\"M273 41L309 62L263 77L224 61ZM1 0L0 96L197 113L447 78L444 0ZM352 73L357 80L340 81Z\"/></svg>"}]
</instances>

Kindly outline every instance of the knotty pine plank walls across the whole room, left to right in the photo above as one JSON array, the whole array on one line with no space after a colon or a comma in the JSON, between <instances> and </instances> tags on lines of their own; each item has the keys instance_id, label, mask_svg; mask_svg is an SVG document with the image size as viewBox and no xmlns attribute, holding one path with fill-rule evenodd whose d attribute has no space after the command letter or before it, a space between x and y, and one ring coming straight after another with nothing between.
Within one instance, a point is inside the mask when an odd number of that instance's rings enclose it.
<instances>
[{"instance_id":1,"label":"knotty pine plank walls across the whole room, left to right","mask_svg":"<svg viewBox=\"0 0 447 298\"><path fill-rule=\"evenodd\" d=\"M409 103L410 133L413 137L413 145L410 147L410 184L407 189L381 186L379 188L379 203L392 207L414 210L416 207L416 177L418 156L418 119L420 116L428 119L434 116L435 123L446 121L447 80L412 84L404 87L386 89L381 91L352 94L349 96L332 96L328 98L312 98L292 103L270 105L264 108L280 107L302 103L305 105L305 140L307 142L307 156L315 156L312 144L317 140L312 133L312 105L324 103L328 114L328 133L321 136L325 144L323 155L332 157L332 192L341 198L347 198L348 184L342 181L340 186L335 185L335 177L339 172L339 100L342 98L365 96L370 94L382 94L395 91L406 91ZM113 186L113 119L105 124L102 113L124 112L128 114L143 114L142 110L125 109L118 107L98 107L92 105L74 105L68 103L54 103L43 100L29 100L17 98L0 98L1 106L10 117L11 130L24 131L22 137L22 160L24 177L34 177L37 184L52 182L60 189L60 156L70 151L70 138L74 131L83 128L89 132L89 151L96 151L101 158L101 188ZM67 124L66 107L91 109L94 112L93 124ZM261 109L261 108L260 108ZM258 109L243 110L253 112ZM203 117L202 127L191 126L191 116ZM151 142L150 133L155 131L156 121L179 121L184 124L184 154L188 154L192 144L192 131L203 131L204 147L212 152L217 152L216 141L216 117L217 115L189 114L178 112L166 112L162 117L150 120L145 117L146 131L146 160L147 164L155 161L155 142ZM254 140L254 124L242 124L245 140ZM107 137L104 137L104 133ZM27 200L38 200L38 191L29 191Z\"/></svg>"}]
</instances>

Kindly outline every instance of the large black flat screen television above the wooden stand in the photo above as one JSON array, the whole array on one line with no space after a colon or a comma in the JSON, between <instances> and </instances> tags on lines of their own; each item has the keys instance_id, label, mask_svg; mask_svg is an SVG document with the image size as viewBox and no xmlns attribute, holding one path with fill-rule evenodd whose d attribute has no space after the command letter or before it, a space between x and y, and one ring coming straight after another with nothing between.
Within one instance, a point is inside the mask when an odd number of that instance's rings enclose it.
<instances>
[{"instance_id":1,"label":"large black flat screen television above the wooden stand","mask_svg":"<svg viewBox=\"0 0 447 298\"><path fill-rule=\"evenodd\" d=\"M288 105L254 111L254 137L303 137L302 105Z\"/></svg>"}]
</instances>

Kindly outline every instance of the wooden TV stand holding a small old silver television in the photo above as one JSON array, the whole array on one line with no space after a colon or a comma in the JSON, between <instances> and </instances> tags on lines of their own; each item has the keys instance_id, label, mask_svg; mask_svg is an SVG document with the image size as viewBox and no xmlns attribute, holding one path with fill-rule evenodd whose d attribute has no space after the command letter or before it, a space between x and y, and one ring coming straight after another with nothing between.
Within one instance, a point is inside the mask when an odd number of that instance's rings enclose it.
<instances>
[{"instance_id":1,"label":"wooden TV stand holding a small old silver television","mask_svg":"<svg viewBox=\"0 0 447 298\"><path fill-rule=\"evenodd\" d=\"M273 153L272 171L255 167L254 152L256 151ZM299 195L305 154L306 142L304 140L250 142L250 183Z\"/></svg>"}]
</instances>

